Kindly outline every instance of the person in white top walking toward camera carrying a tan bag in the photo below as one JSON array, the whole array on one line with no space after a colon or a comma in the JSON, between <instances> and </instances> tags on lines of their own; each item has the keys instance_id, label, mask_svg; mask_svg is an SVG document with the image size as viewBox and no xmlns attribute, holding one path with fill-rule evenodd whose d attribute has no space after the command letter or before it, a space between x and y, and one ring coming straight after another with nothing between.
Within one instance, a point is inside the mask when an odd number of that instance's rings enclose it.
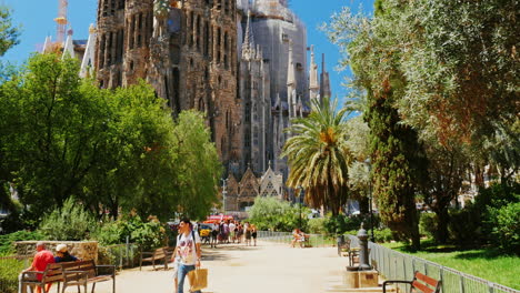
<instances>
[{"instance_id":1,"label":"person in white top walking toward camera carrying a tan bag","mask_svg":"<svg viewBox=\"0 0 520 293\"><path fill-rule=\"evenodd\" d=\"M198 233L193 232L193 228L188 218L181 220L179 224L180 234L178 236L178 244L176 247L174 254L180 257L179 269L178 269L178 286L177 293L184 293L184 280L186 275L200 267L200 257L202 256L202 251L200 249L200 236ZM196 291L192 293L201 293Z\"/></svg>"}]
</instances>

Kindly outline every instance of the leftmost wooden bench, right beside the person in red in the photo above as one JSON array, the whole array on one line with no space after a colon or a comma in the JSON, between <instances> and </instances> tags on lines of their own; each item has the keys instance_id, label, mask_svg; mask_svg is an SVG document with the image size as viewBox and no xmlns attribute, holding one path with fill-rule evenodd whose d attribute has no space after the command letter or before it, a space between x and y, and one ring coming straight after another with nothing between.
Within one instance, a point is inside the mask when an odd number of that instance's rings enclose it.
<instances>
[{"instance_id":1,"label":"leftmost wooden bench, right beside the person in red","mask_svg":"<svg viewBox=\"0 0 520 293\"><path fill-rule=\"evenodd\" d=\"M37 275L41 274L41 281ZM27 286L33 292L33 287L39 286L43 293L48 293L47 284L58 283L58 292L60 291L60 282L63 281L63 272L61 265L58 263L49 263L43 272L27 271L23 272L20 280L21 292L27 292Z\"/></svg>"}]
</instances>

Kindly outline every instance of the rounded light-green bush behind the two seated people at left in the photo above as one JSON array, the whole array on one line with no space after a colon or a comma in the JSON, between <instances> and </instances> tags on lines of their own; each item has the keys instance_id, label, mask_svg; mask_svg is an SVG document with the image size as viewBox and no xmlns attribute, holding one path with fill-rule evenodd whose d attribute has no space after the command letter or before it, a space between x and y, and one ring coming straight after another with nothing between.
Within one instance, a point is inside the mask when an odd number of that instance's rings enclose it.
<instances>
[{"instance_id":1,"label":"rounded light-green bush behind the two seated people at left","mask_svg":"<svg viewBox=\"0 0 520 293\"><path fill-rule=\"evenodd\" d=\"M46 214L40 231L48 240L79 241L96 233L98 224L94 216L83 205L69 198L61 209Z\"/></svg>"}]
</instances>

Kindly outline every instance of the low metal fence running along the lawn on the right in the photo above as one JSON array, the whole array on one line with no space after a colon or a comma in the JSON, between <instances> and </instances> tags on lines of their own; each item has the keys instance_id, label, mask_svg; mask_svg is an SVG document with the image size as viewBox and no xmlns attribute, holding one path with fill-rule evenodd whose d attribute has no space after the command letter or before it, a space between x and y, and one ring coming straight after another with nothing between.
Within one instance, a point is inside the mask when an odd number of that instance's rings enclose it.
<instances>
[{"instance_id":1,"label":"low metal fence running along the lawn on the right","mask_svg":"<svg viewBox=\"0 0 520 293\"><path fill-rule=\"evenodd\" d=\"M351 245L358 245L358 238L349 235ZM481 277L433 263L413 255L400 253L369 242L370 262L387 280L412 280L419 271L442 281L443 293L520 293L520 291L496 284ZM400 285L401 292L409 290Z\"/></svg>"}]
</instances>

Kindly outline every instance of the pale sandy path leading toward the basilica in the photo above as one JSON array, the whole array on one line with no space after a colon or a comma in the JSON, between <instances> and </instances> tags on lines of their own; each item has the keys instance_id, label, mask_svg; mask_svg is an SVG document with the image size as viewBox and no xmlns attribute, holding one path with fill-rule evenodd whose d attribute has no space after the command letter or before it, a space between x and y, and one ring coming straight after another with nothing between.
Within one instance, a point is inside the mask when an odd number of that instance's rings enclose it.
<instances>
[{"instance_id":1,"label":"pale sandy path leading toward the basilica","mask_svg":"<svg viewBox=\"0 0 520 293\"><path fill-rule=\"evenodd\" d=\"M258 246L202 246L202 266L209 269L209 287L202 292L321 293L327 280L338 279L346 265L347 259L339 257L336 247L292 249L262 241ZM138 267L121 272L116 280L118 293L173 293L172 270ZM110 284L98 284L96 292L111 292Z\"/></svg>"}]
</instances>

